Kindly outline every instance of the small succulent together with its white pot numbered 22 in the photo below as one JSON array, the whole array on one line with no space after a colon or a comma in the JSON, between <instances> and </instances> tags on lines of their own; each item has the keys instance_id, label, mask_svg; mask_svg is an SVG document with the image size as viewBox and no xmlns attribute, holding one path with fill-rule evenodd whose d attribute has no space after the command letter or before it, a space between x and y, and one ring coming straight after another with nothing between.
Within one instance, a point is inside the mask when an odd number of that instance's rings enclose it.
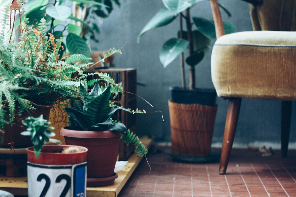
<instances>
[{"instance_id":1,"label":"small succulent together with its white pot numbered 22","mask_svg":"<svg viewBox=\"0 0 296 197\"><path fill-rule=\"evenodd\" d=\"M86 196L87 149L82 146L44 145L55 134L43 115L28 117L22 123L27 131L21 134L30 136L34 144L27 148L28 195Z\"/></svg>"}]
</instances>

